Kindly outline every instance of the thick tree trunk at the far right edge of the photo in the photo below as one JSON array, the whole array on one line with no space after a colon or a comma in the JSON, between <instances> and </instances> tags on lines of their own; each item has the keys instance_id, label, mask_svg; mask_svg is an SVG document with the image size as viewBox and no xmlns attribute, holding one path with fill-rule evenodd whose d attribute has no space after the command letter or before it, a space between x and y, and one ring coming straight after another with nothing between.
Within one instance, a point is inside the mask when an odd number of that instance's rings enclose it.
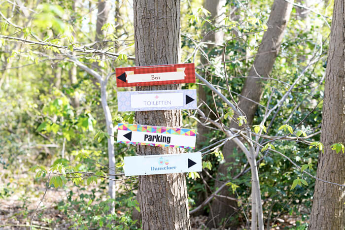
<instances>
[{"instance_id":1,"label":"thick tree trunk at the far right edge of the photo","mask_svg":"<svg viewBox=\"0 0 345 230\"><path fill-rule=\"evenodd\" d=\"M335 0L326 69L322 110L321 143L317 177L345 185L345 154L331 149L334 143L345 143L345 3ZM345 189L316 180L310 230L345 229Z\"/></svg>"}]
</instances>

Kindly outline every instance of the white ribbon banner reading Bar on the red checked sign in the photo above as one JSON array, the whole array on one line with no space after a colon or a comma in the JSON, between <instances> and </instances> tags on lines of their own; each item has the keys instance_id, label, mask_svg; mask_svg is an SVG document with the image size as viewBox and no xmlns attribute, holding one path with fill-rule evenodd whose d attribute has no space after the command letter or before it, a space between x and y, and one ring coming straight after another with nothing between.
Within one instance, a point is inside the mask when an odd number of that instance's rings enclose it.
<instances>
[{"instance_id":1,"label":"white ribbon banner reading Bar on the red checked sign","mask_svg":"<svg viewBox=\"0 0 345 230\"><path fill-rule=\"evenodd\" d=\"M184 80L186 74L185 67L176 68L176 72L162 72L162 73L140 73L134 74L134 71L126 71L126 79L128 83L137 82L152 82L152 81L173 81Z\"/></svg>"}]
</instances>

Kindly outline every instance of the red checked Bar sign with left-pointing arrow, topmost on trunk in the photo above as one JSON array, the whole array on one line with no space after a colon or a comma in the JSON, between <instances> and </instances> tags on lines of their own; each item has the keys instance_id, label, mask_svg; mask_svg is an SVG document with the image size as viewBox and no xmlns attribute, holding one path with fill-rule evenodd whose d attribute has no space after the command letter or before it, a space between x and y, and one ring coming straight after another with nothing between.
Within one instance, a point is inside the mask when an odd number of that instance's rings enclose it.
<instances>
[{"instance_id":1,"label":"red checked Bar sign with left-pointing arrow, topmost on trunk","mask_svg":"<svg viewBox=\"0 0 345 230\"><path fill-rule=\"evenodd\" d=\"M117 87L151 86L195 82L194 63L160 66L119 67Z\"/></svg>"}]
</instances>

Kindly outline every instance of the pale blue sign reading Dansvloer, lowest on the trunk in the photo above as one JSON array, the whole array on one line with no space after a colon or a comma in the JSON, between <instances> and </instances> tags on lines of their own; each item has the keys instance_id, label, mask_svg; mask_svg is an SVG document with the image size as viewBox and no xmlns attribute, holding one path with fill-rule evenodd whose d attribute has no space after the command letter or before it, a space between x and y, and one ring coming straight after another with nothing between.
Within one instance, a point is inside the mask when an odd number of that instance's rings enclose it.
<instances>
[{"instance_id":1,"label":"pale blue sign reading Dansvloer, lowest on the trunk","mask_svg":"<svg viewBox=\"0 0 345 230\"><path fill-rule=\"evenodd\" d=\"M125 157L125 176L202 171L201 153Z\"/></svg>"}]
</instances>

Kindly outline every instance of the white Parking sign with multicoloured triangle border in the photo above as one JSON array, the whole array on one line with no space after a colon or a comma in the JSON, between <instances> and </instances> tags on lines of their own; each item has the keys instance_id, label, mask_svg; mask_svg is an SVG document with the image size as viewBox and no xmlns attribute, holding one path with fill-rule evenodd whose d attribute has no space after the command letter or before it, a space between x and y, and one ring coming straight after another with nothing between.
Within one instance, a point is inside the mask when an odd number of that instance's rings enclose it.
<instances>
[{"instance_id":1,"label":"white Parking sign with multicoloured triangle border","mask_svg":"<svg viewBox=\"0 0 345 230\"><path fill-rule=\"evenodd\" d=\"M119 123L117 142L195 149L196 130Z\"/></svg>"}]
</instances>

